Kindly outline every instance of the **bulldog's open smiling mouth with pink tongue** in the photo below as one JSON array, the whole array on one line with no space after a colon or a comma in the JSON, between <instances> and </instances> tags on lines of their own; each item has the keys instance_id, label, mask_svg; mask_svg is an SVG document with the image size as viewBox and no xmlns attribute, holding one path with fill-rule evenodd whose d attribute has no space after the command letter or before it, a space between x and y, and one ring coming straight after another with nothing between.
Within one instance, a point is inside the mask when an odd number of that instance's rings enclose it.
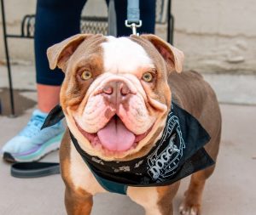
<instances>
[{"instance_id":1,"label":"bulldog's open smiling mouth with pink tongue","mask_svg":"<svg viewBox=\"0 0 256 215\"><path fill-rule=\"evenodd\" d=\"M136 135L132 133L125 124L120 120L119 116L114 115L105 127L97 133L87 133L76 122L79 132L90 141L92 146L101 144L105 150L124 152L131 150L137 146L137 143L144 139L151 131L150 127L147 132Z\"/></svg>"}]
</instances>

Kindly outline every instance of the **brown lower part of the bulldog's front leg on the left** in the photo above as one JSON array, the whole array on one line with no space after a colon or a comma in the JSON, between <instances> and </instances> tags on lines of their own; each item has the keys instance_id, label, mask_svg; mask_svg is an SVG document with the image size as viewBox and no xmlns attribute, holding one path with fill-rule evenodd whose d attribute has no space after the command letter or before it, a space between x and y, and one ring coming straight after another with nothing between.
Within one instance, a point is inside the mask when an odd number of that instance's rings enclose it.
<instances>
[{"instance_id":1,"label":"brown lower part of the bulldog's front leg on the left","mask_svg":"<svg viewBox=\"0 0 256 215\"><path fill-rule=\"evenodd\" d=\"M92 195L84 190L65 190L65 206L68 215L90 215Z\"/></svg>"}]
</instances>

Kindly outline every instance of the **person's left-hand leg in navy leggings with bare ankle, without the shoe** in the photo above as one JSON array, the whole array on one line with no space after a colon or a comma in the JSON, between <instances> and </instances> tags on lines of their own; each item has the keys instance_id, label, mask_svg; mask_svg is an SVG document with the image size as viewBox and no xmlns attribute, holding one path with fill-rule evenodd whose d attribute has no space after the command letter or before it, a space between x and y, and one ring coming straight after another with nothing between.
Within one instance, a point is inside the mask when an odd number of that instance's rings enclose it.
<instances>
[{"instance_id":1,"label":"person's left-hand leg in navy leggings with bare ankle, without the shoe","mask_svg":"<svg viewBox=\"0 0 256 215\"><path fill-rule=\"evenodd\" d=\"M80 14L86 0L38 0L35 31L38 109L49 112L59 103L64 74L49 70L46 50L80 31Z\"/></svg>"}]
</instances>

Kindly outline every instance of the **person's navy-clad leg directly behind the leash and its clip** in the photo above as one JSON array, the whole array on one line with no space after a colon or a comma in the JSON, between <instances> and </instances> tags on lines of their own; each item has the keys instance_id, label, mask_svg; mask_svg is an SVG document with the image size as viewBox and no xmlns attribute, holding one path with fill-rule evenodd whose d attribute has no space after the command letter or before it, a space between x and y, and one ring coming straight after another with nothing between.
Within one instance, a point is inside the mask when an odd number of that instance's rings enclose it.
<instances>
[{"instance_id":1,"label":"person's navy-clad leg directly behind the leash and its clip","mask_svg":"<svg viewBox=\"0 0 256 215\"><path fill-rule=\"evenodd\" d=\"M137 32L154 34L155 25L155 0L140 0L140 18L143 20L143 26L137 29ZM117 32L118 37L131 35L131 29L125 26L127 19L127 0L115 0L115 10L117 14Z\"/></svg>"}]
</instances>

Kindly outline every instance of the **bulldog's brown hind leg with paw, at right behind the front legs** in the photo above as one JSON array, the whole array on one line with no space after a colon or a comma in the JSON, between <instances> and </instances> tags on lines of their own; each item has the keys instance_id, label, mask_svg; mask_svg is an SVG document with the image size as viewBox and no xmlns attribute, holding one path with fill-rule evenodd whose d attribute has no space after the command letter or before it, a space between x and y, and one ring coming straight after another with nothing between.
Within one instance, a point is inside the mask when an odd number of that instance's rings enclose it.
<instances>
[{"instance_id":1,"label":"bulldog's brown hind leg with paw, at right behind the front legs","mask_svg":"<svg viewBox=\"0 0 256 215\"><path fill-rule=\"evenodd\" d=\"M191 176L189 189L185 192L185 198L183 203L179 207L180 214L182 215L200 215L201 214L201 199L202 193L206 184L207 178L209 178L214 170L213 167L209 167L205 170L201 170L198 173L194 173Z\"/></svg>"}]
</instances>

